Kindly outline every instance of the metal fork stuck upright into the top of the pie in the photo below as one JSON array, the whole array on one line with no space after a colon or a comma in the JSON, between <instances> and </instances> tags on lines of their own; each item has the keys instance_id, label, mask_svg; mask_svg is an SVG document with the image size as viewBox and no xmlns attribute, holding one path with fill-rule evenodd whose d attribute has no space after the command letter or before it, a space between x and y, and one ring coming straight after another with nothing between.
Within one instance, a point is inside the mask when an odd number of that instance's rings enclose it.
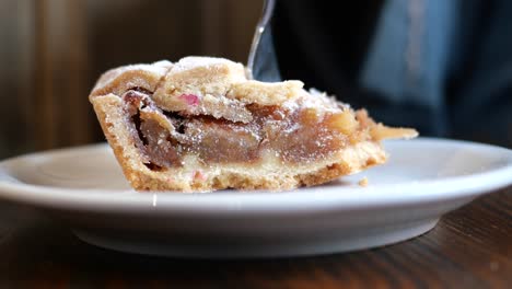
<instances>
[{"instance_id":1,"label":"metal fork stuck upright into the top of the pie","mask_svg":"<svg viewBox=\"0 0 512 289\"><path fill-rule=\"evenodd\" d=\"M276 0L264 1L261 18L256 25L247 59L247 79L267 82L281 81L270 27L275 7Z\"/></svg>"}]
</instances>

